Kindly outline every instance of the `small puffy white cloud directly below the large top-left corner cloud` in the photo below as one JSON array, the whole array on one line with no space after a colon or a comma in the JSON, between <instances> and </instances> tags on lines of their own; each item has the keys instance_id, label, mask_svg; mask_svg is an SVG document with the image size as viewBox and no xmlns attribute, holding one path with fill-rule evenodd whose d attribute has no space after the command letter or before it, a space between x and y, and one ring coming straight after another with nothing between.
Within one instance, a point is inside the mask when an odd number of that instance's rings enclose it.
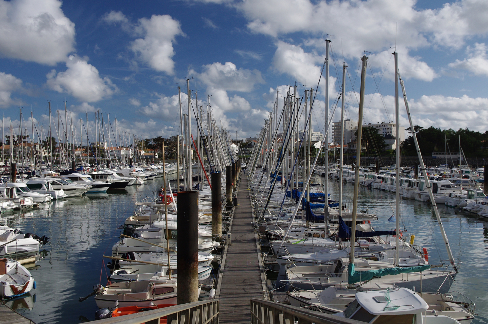
<instances>
[{"instance_id":1,"label":"small puffy white cloud directly below the large top-left corner cloud","mask_svg":"<svg viewBox=\"0 0 488 324\"><path fill-rule=\"evenodd\" d=\"M60 93L68 93L80 101L95 102L110 97L118 91L109 78L101 78L97 68L85 59L70 55L66 61L67 70L47 74L47 85Z\"/></svg>"}]
</instances>

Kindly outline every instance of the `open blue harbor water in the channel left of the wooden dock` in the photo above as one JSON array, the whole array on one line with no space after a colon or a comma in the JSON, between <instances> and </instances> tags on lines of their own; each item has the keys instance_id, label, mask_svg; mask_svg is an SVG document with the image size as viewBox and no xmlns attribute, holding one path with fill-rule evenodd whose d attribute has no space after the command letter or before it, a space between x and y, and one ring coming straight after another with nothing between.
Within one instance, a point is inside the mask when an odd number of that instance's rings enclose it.
<instances>
[{"instance_id":1,"label":"open blue harbor water in the channel left of the wooden dock","mask_svg":"<svg viewBox=\"0 0 488 324\"><path fill-rule=\"evenodd\" d=\"M98 309L93 297L78 299L92 292L94 284L107 283L108 259L102 255L111 255L121 232L117 227L132 215L134 203L155 197L162 179L2 214L1 224L50 238L40 248L37 268L30 270L37 289L9 305L39 324L93 321Z\"/></svg>"}]
</instances>

